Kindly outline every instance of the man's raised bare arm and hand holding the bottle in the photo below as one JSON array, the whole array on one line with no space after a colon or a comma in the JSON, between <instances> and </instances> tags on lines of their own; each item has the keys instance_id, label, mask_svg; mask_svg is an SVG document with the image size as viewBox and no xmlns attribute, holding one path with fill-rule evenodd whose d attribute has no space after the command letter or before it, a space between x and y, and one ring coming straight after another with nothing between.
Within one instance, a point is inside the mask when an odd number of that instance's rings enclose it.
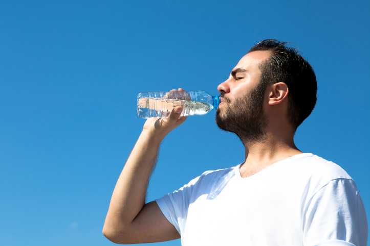
<instances>
[{"instance_id":1,"label":"man's raised bare arm and hand holding the bottle","mask_svg":"<svg viewBox=\"0 0 370 246\"><path fill-rule=\"evenodd\" d=\"M144 243L180 238L156 202L145 204L146 188L163 138L186 117L181 107L168 118L147 119L113 191L103 234L115 243Z\"/></svg>"}]
</instances>

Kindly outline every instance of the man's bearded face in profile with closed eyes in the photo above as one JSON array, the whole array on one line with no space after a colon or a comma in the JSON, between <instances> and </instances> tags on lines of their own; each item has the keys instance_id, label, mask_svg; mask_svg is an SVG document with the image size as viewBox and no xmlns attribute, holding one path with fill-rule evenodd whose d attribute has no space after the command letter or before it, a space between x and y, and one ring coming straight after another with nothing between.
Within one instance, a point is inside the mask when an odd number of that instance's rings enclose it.
<instances>
[{"instance_id":1,"label":"man's bearded face in profile with closed eyes","mask_svg":"<svg viewBox=\"0 0 370 246\"><path fill-rule=\"evenodd\" d=\"M270 55L268 51L248 53L231 71L230 77L217 87L222 99L216 111L217 126L235 133L242 141L258 141L265 135L265 85L259 83L258 65Z\"/></svg>"}]
</instances>

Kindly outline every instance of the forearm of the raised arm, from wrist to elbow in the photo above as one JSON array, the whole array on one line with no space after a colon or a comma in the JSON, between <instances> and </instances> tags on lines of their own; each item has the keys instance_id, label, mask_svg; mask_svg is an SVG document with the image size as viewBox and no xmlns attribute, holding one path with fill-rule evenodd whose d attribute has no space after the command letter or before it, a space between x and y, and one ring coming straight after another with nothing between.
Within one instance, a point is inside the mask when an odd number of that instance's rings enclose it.
<instances>
[{"instance_id":1,"label":"forearm of the raised arm, from wrist to elbow","mask_svg":"<svg viewBox=\"0 0 370 246\"><path fill-rule=\"evenodd\" d=\"M161 140L145 130L141 133L113 191L104 227L124 229L143 208Z\"/></svg>"}]
</instances>

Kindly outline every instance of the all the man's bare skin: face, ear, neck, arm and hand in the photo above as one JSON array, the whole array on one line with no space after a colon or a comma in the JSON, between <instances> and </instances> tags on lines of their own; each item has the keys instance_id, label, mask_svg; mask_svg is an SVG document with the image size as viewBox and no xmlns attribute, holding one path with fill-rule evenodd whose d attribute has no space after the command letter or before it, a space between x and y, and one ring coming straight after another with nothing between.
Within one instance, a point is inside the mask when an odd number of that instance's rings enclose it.
<instances>
[{"instance_id":1,"label":"all the man's bare skin: face, ear, neck, arm and hand","mask_svg":"<svg viewBox=\"0 0 370 246\"><path fill-rule=\"evenodd\" d=\"M229 78L217 87L230 99L230 104L256 86L260 78L258 64L270 56L267 51L248 53L238 62ZM302 153L294 144L294 130L286 117L288 93L284 83L267 86L264 98L264 112L269 122L264 129L266 138L260 142L243 142L245 162L240 169L242 177L249 177L277 161ZM220 114L224 113L226 104L222 100ZM130 244L180 238L156 202L145 204L145 194L161 141L186 119L180 117L181 111L181 107L176 107L168 118L146 120L117 181L105 218L103 234L111 241Z\"/></svg>"}]
</instances>

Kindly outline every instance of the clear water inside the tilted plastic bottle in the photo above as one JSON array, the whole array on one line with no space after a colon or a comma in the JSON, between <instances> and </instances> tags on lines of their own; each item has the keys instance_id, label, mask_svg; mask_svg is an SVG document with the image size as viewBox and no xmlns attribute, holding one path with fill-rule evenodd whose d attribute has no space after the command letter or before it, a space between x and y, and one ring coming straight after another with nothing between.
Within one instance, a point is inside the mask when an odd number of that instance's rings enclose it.
<instances>
[{"instance_id":1,"label":"clear water inside the tilted plastic bottle","mask_svg":"<svg viewBox=\"0 0 370 246\"><path fill-rule=\"evenodd\" d=\"M172 109L177 106L183 108L181 116L203 115L213 109L213 106L208 103L141 97L138 99L138 115L141 118L168 117Z\"/></svg>"}]
</instances>

